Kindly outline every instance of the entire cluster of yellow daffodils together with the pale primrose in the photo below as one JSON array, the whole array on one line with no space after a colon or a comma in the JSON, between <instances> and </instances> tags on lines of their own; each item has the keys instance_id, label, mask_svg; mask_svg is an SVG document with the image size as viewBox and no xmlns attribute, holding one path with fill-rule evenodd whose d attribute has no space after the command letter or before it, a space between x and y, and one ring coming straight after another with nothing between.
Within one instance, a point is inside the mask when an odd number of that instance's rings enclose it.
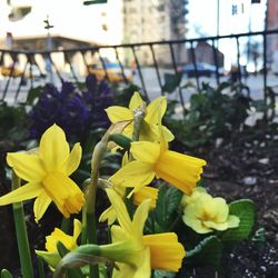
<instances>
[{"instance_id":1,"label":"entire cluster of yellow daffodils together with the pale primrose","mask_svg":"<svg viewBox=\"0 0 278 278\"><path fill-rule=\"evenodd\" d=\"M67 93L67 86L70 85L64 85L61 96ZM52 93L59 95L57 91ZM158 198L158 188L152 183L156 179L165 180L185 195L181 200L182 220L198 234L238 227L239 218L229 215L222 198L212 198L205 189L196 188L206 161L169 149L173 135L162 126L166 108L165 97L147 106L136 92L129 108L110 107L106 110L112 125L95 147L91 178L86 180L83 191L69 177L80 163L80 143L70 151L66 133L58 125L43 132L38 149L8 153L7 162L13 173L27 183L0 197L0 206L36 198L36 221L42 218L51 201L66 218L83 210L82 222L75 219L72 236L54 228L46 238L46 251L36 251L54 271L54 277L63 277L67 267L81 267L78 277L88 277L89 268L82 266L99 262L115 266L115 278L148 278L151 269L179 271L186 251L177 234L170 230L145 235L149 210L156 207ZM111 177L103 178L99 173L101 158L111 149L109 143L116 133L119 140L115 142L125 149L122 167ZM127 138L129 145L125 147L120 142ZM100 217L100 221L108 220L111 242L102 245L93 239L97 187L105 189L111 203ZM131 197L137 207L133 210L126 206ZM93 277L96 268L89 271Z\"/></svg>"}]
</instances>

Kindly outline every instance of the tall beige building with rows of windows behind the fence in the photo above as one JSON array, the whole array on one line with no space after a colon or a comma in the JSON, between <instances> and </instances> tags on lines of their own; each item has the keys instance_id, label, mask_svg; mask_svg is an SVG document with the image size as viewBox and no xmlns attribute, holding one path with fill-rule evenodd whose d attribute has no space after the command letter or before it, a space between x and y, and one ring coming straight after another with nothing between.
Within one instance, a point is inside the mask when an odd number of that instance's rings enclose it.
<instances>
[{"instance_id":1,"label":"tall beige building with rows of windows behind the fence","mask_svg":"<svg viewBox=\"0 0 278 278\"><path fill-rule=\"evenodd\" d=\"M185 39L187 0L123 0L123 42L151 42ZM170 64L169 46L155 49L160 64ZM148 47L140 47L140 61L152 64L152 54ZM186 60L185 46L176 46L178 63ZM129 59L129 54L127 54Z\"/></svg>"}]
</instances>

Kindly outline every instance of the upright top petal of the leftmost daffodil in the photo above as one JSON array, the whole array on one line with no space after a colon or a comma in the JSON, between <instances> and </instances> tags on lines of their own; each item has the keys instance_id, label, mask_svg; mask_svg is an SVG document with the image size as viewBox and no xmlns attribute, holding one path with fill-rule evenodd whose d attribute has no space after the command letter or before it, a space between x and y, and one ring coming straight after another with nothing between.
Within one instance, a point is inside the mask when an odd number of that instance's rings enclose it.
<instances>
[{"instance_id":1,"label":"upright top petal of the leftmost daffodil","mask_svg":"<svg viewBox=\"0 0 278 278\"><path fill-rule=\"evenodd\" d=\"M47 171L58 170L69 157L69 145L63 130L57 125L51 126L40 139L39 156Z\"/></svg>"}]
</instances>

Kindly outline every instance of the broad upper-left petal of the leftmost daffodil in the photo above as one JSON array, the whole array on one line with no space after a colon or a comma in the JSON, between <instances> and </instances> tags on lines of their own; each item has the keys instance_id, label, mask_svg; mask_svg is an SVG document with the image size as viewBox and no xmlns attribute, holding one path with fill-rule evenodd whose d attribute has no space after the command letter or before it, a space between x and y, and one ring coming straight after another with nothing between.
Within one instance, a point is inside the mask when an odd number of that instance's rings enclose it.
<instances>
[{"instance_id":1,"label":"broad upper-left petal of the leftmost daffodil","mask_svg":"<svg viewBox=\"0 0 278 278\"><path fill-rule=\"evenodd\" d=\"M7 162L23 180L39 182L46 177L46 171L40 158L26 152L9 152Z\"/></svg>"}]
</instances>

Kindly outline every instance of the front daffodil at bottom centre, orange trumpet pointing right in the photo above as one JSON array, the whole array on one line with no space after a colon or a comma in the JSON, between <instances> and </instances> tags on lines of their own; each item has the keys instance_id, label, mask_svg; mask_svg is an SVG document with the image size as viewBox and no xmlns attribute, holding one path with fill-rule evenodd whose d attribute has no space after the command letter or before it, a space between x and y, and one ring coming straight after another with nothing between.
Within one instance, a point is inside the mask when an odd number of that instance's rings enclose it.
<instances>
[{"instance_id":1,"label":"front daffodil at bottom centre, orange trumpet pointing right","mask_svg":"<svg viewBox=\"0 0 278 278\"><path fill-rule=\"evenodd\" d=\"M119 270L113 270L112 277L148 278L151 269L178 271L185 249L177 235L142 235L150 200L145 200L137 208L131 220L121 197L112 189L107 189L107 195L119 221L119 226L111 227L112 244L100 246L101 256L115 260L119 267Z\"/></svg>"}]
</instances>

